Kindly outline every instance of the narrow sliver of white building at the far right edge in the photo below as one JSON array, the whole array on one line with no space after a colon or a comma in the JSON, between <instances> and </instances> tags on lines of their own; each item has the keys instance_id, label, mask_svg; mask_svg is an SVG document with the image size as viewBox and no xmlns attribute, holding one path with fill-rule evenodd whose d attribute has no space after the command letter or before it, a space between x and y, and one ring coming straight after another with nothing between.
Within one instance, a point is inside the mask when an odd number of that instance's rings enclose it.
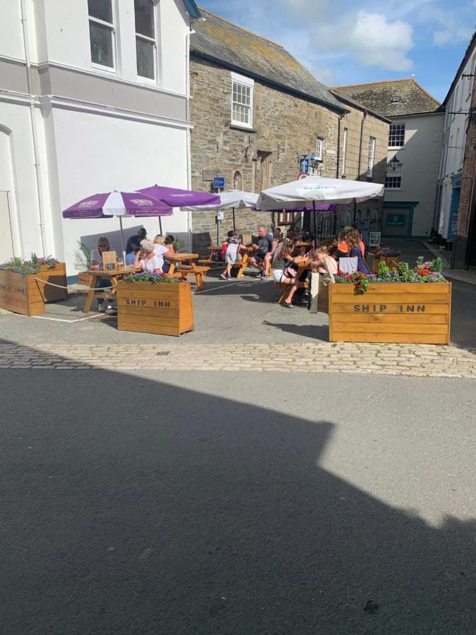
<instances>
[{"instance_id":1,"label":"narrow sliver of white building at the far right edge","mask_svg":"<svg viewBox=\"0 0 476 635\"><path fill-rule=\"evenodd\" d=\"M444 134L435 204L434 230L438 241L452 245L458 224L461 176L466 131L476 71L476 37L473 35L463 61L444 99Z\"/></svg>"}]
</instances>

